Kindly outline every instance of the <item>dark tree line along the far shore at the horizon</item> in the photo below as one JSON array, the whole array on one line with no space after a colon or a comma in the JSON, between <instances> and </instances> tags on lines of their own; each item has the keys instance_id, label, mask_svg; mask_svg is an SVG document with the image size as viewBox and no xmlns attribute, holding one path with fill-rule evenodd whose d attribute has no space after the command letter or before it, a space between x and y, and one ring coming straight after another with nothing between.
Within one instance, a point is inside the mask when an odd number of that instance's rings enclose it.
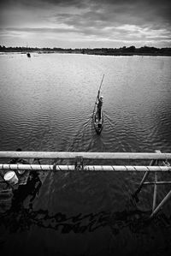
<instances>
[{"instance_id":1,"label":"dark tree line along the far shore at the horizon","mask_svg":"<svg viewBox=\"0 0 171 256\"><path fill-rule=\"evenodd\" d=\"M171 48L156 48L152 46L142 46L140 48L136 48L135 46L126 47L123 46L121 48L38 48L38 47L5 47L4 45L0 45L0 52L38 52L38 53L81 53L81 54L94 54L94 55L161 55L161 56L171 56Z\"/></svg>"}]
</instances>

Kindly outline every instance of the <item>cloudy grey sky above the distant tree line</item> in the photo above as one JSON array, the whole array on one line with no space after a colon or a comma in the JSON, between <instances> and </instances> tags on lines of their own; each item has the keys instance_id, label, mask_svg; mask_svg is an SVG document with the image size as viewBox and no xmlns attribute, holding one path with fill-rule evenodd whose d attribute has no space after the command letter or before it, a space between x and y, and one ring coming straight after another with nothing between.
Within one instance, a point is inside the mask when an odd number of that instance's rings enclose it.
<instances>
[{"instance_id":1,"label":"cloudy grey sky above the distant tree line","mask_svg":"<svg viewBox=\"0 0 171 256\"><path fill-rule=\"evenodd\" d=\"M0 45L171 47L170 0L1 0Z\"/></svg>"}]
</instances>

